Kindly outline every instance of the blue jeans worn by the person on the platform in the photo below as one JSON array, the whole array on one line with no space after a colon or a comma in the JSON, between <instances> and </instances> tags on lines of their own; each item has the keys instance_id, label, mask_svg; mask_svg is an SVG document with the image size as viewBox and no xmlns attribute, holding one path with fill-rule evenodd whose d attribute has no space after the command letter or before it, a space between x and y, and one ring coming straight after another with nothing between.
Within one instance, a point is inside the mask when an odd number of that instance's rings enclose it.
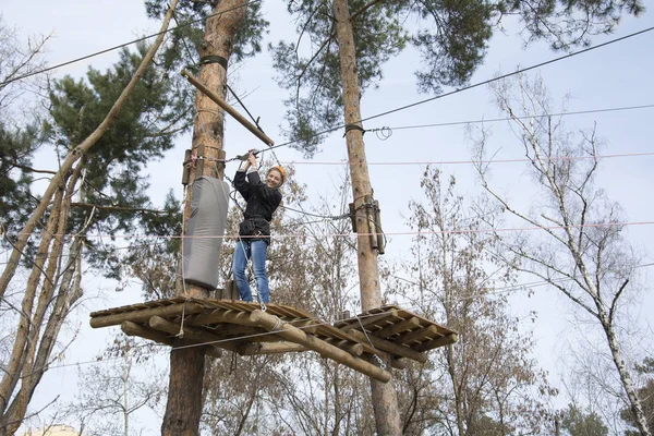
<instances>
[{"instance_id":1,"label":"blue jeans worn by the person on the platform","mask_svg":"<svg viewBox=\"0 0 654 436\"><path fill-rule=\"evenodd\" d=\"M268 276L266 275L267 251L268 244L261 240L247 241L245 239L239 239L239 241L237 241L233 271L234 281L237 282L237 288L241 294L241 300L252 301L252 291L250 290L250 283L247 282L247 277L245 275L247 259L252 258L252 269L254 270L259 300L263 303L268 303Z\"/></svg>"}]
</instances>

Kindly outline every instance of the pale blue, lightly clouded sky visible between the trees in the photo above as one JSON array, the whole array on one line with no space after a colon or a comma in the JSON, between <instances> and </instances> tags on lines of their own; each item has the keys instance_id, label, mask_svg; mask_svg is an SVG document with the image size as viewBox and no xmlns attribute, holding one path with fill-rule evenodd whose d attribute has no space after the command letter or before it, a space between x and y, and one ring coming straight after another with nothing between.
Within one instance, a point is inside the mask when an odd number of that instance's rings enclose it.
<instances>
[{"instance_id":1,"label":"pale blue, lightly clouded sky visible between the trees","mask_svg":"<svg viewBox=\"0 0 654 436\"><path fill-rule=\"evenodd\" d=\"M646 1L652 9L652 2ZM649 4L647 4L649 3ZM7 24L16 26L23 40L29 35L52 33L47 46L48 64L58 64L98 50L132 40L144 33L156 32L159 23L145 17L141 1L128 0L68 0L52 2L34 0L29 8L25 2L2 0L0 13ZM271 23L267 41L279 39L294 40L294 24L286 14L286 9L274 7L271 1L264 2L264 13ZM35 13L38 11L38 13ZM593 44L601 44L654 26L654 11L645 12L640 19L626 17L613 35L593 38ZM537 72L550 90L553 106L560 107L560 101L568 96L568 111L585 111L607 108L644 106L654 104L654 83L651 72L654 71L654 57L651 47L654 45L654 32L629 38L597 50L593 50L570 59L548 64L530 72L533 77ZM479 83L498 74L514 71L560 56L554 53L545 44L533 44L524 47L517 35L516 26L507 25L506 34L497 33L489 44L487 56L475 72L470 83ZM75 77L84 75L90 65L104 70L118 59L117 52L106 53L84 62L61 68L53 73L55 77L70 74ZM368 89L362 98L361 108L364 118L375 116L395 108L403 107L429 96L420 95L415 89L413 76L419 59L414 52L405 52L391 59L384 66L384 80L378 87ZM257 58L247 60L233 74L231 86L238 94L247 95L245 104L254 117L261 117L261 125L277 144L284 142L280 132L284 112L282 99L286 97L274 81L270 57L264 51ZM451 90L451 89L445 89ZM439 126L431 129L397 128L459 122L500 117L493 104L492 95L486 86L462 92L449 97L436 99L411 109L377 118L364 123L365 129L391 128L392 135L382 141L374 133L365 135L366 155L370 162L371 182L375 196L383 210L383 221L387 233L408 232L405 222L408 203L411 198L420 198L420 177L425 161L444 162L438 167L445 174L457 178L459 193L472 198L480 193L479 180L473 168L467 162L471 159L471 144L467 140L464 125ZM565 118L566 125L572 130L592 129L605 141L605 155L626 155L654 152L652 147L652 119L654 109L610 111ZM520 144L516 141L505 123L488 123L492 128L491 148L497 150L497 159L523 158ZM396 128L396 129L392 129ZM164 159L153 162L147 171L152 182L152 195L155 204L161 205L166 193L172 189L181 196L181 162L184 149L191 144L190 135L180 137L175 148ZM263 144L245 129L232 120L228 120L225 149L228 157L244 153L249 148L259 148ZM322 152L312 161L305 161L301 154L287 147L276 150L282 162L294 162L295 178L307 186L310 201L319 204L319 197L335 198L346 167L338 164L346 159L346 145L342 132L329 135L320 146ZM388 165L404 162L407 165ZM448 164L449 162L449 164ZM337 164L337 165L335 165ZM387 164L387 165L380 165ZM609 198L620 203L627 220L630 222L654 221L654 207L646 186L652 186L654 156L616 157L604 159L601 165L598 185ZM47 167L47 156L37 160L35 166ZM235 166L228 167L227 172L235 171ZM524 164L501 164L494 166L493 183L500 191L523 205L532 193L525 190L529 178ZM626 235L637 250L643 253L643 263L654 259L651 246L654 242L653 225L633 225L626 230ZM388 261L402 259L409 256L412 235L391 235L386 250ZM654 299L651 292L651 278L654 269L642 268L639 284L641 292L634 298L632 312L644 331L654 320ZM534 281L524 278L523 282ZM109 329L93 330L88 327L87 314L90 311L110 306L137 303L142 300L140 290L131 287L122 292L114 292L117 283L101 278L89 278L85 289L89 294L101 295L89 299L85 311L78 313L69 332L78 327L76 342L66 353L64 363L86 362L102 351L111 335ZM576 319L576 312L570 304L557 296L552 290L534 288L531 298L524 291L516 291L511 296L512 310L518 316L530 311L538 314L533 325L533 337L536 340L536 359L550 374L560 370L560 361L565 358L567 344L580 340L570 332ZM274 295L272 295L274 298ZM438 320L436 320L438 322ZM584 331L582 330L581 334ZM651 354L651 343L642 341L642 348ZM637 352L638 350L634 350ZM642 350L641 350L642 351ZM36 403L51 401L53 392L70 393L70 386L76 380L76 366L61 366L48 373L44 384L37 390ZM555 378L555 377L550 377ZM152 416L150 416L152 419ZM148 421L148 420L146 420ZM154 428L157 428L154 425Z\"/></svg>"}]
</instances>

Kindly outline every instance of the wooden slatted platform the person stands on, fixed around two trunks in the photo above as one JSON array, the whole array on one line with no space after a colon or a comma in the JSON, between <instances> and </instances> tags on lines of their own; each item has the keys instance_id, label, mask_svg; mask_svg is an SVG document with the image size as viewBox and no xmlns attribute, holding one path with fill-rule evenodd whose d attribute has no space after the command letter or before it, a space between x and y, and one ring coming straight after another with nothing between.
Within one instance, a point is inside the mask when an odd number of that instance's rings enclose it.
<instances>
[{"instance_id":1,"label":"wooden slatted platform the person stands on, fixed around two trunks","mask_svg":"<svg viewBox=\"0 0 654 436\"><path fill-rule=\"evenodd\" d=\"M257 303L216 299L177 298L90 314L94 328L114 325L168 346L182 337L216 356L222 349L242 355L313 350L380 382L390 373L371 363L373 355L390 354L392 366L402 368L404 359L424 363L425 351L457 340L455 331L393 305L335 325L295 307L268 304L263 312Z\"/></svg>"}]
</instances>

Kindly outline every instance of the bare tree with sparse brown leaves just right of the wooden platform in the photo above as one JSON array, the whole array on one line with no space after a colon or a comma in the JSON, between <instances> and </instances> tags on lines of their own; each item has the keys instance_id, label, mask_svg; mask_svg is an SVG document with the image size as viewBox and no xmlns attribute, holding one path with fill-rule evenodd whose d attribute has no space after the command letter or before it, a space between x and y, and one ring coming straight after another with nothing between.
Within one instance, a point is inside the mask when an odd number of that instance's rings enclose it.
<instances>
[{"instance_id":1,"label":"bare tree with sparse brown leaves just right of the wooden platform","mask_svg":"<svg viewBox=\"0 0 654 436\"><path fill-rule=\"evenodd\" d=\"M453 178L444 183L439 170L427 168L421 186L426 201L410 203L409 222L419 231L404 265L411 278L396 278L392 289L459 339L401 373L404 434L541 434L555 392L509 312L501 287L512 275L487 254L497 241L477 231L482 218L469 213Z\"/></svg>"}]
</instances>

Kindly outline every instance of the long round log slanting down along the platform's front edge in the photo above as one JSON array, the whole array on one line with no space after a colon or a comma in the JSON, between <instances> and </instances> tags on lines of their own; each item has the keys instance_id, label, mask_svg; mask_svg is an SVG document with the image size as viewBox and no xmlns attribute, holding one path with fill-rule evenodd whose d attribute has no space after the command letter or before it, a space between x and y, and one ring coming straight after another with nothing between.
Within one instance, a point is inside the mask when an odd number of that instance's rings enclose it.
<instances>
[{"instance_id":1,"label":"long round log slanting down along the platform's front edge","mask_svg":"<svg viewBox=\"0 0 654 436\"><path fill-rule=\"evenodd\" d=\"M256 323L258 326L268 331L274 331L291 342L306 347L307 349L313 350L325 358L329 358L336 362L342 363L343 365L359 371L360 373L363 373L378 382L388 383L390 380L390 373L388 371L384 371L372 363L364 361L363 359L354 358L352 354L314 336L306 335L298 327L293 327L288 323L283 323L277 316L256 310L252 312L250 318L253 323Z\"/></svg>"}]
</instances>

